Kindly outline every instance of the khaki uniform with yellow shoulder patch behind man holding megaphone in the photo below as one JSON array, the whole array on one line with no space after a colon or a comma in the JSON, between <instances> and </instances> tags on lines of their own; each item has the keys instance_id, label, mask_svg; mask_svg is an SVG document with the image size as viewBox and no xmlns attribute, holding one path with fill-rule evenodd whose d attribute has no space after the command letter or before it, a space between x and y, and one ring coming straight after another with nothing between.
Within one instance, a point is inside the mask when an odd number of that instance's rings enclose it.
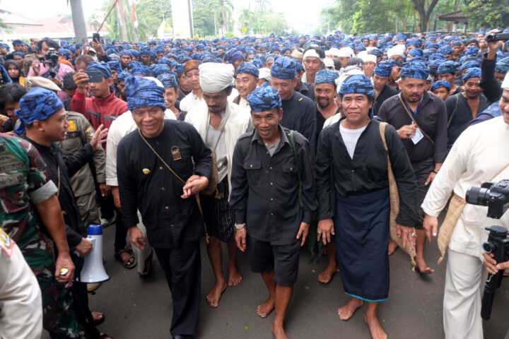
<instances>
[{"instance_id":1,"label":"khaki uniform with yellow shoulder patch behind man holding megaphone","mask_svg":"<svg viewBox=\"0 0 509 339\"><path fill-rule=\"evenodd\" d=\"M66 112L69 121L67 136L64 141L57 142L65 156L79 152L87 143L90 143L95 132L90 122L78 112ZM100 185L101 194L108 195L106 181L106 154L103 148L98 148L93 154L95 165L95 179ZM90 165L85 165L71 177L71 186L76 196L76 203L85 225L100 225L98 204L95 201L95 182Z\"/></svg>"}]
</instances>

